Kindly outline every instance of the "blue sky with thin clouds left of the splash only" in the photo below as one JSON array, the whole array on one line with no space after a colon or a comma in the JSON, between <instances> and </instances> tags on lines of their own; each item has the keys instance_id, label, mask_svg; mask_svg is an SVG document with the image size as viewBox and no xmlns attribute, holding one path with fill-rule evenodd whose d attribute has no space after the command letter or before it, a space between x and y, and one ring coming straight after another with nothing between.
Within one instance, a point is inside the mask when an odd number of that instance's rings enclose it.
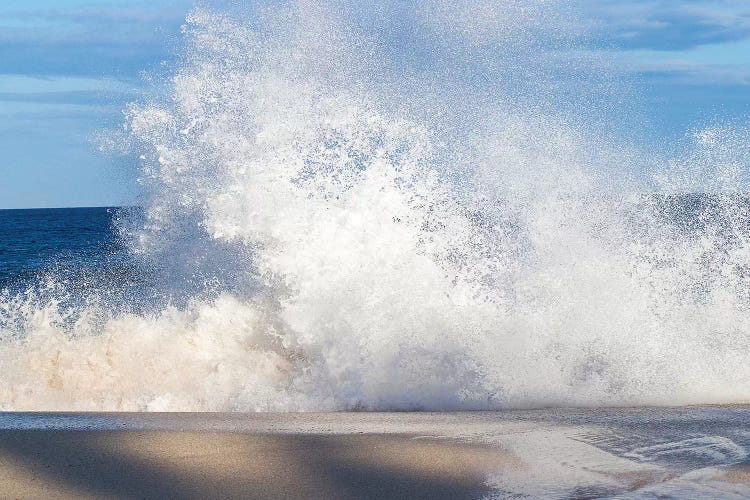
<instances>
[{"instance_id":1,"label":"blue sky with thin clouds left of the splash only","mask_svg":"<svg viewBox=\"0 0 750 500\"><path fill-rule=\"evenodd\" d=\"M173 58L188 0L0 3L0 208L130 203L134 174L98 152L142 71Z\"/></svg>"}]
</instances>

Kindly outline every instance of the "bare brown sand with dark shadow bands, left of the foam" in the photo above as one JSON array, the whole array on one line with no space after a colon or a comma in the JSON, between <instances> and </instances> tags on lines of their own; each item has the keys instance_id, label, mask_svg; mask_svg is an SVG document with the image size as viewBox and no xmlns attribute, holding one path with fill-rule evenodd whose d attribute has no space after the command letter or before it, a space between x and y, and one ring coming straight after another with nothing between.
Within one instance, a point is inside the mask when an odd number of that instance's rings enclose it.
<instances>
[{"instance_id":1,"label":"bare brown sand with dark shadow bands, left of the foam","mask_svg":"<svg viewBox=\"0 0 750 500\"><path fill-rule=\"evenodd\" d=\"M0 432L3 498L481 498L518 464L406 435Z\"/></svg>"}]
</instances>

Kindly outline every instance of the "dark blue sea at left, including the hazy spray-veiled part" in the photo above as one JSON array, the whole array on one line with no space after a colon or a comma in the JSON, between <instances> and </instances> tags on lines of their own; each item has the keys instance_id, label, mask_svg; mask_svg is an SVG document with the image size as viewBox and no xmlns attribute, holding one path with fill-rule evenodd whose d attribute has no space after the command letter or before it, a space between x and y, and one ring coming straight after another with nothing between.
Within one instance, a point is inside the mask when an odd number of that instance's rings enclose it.
<instances>
[{"instance_id":1,"label":"dark blue sea at left, including the hazy spray-veiled part","mask_svg":"<svg viewBox=\"0 0 750 500\"><path fill-rule=\"evenodd\" d=\"M220 244L195 250L191 241L205 235L170 247L169 255L132 252L118 228L142 227L142 216L134 207L0 210L0 293L33 292L65 305L95 297L142 311L236 286L238 273L223 266L240 269L244 256Z\"/></svg>"}]
</instances>

